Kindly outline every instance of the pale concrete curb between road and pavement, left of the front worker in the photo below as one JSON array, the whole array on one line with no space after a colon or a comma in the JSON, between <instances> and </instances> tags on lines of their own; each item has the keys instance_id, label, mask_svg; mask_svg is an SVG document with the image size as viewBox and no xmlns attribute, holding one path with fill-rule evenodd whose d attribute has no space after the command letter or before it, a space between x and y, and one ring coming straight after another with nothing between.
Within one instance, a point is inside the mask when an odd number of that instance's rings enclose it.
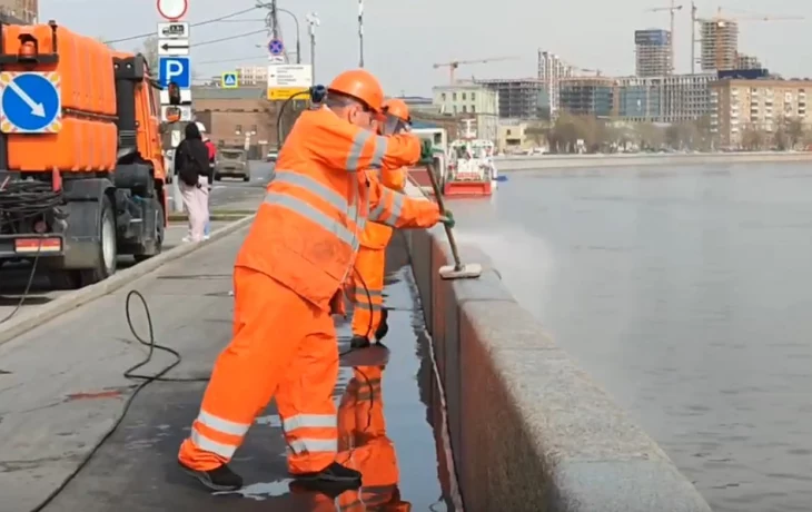
<instances>
[{"instance_id":1,"label":"pale concrete curb between road and pavement, left of the front worker","mask_svg":"<svg viewBox=\"0 0 812 512\"><path fill-rule=\"evenodd\" d=\"M85 288L77 289L69 294L62 295L55 301L38 307L31 312L20 312L18 316L12 317L6 324L0 325L0 345L8 343L21 334L38 327L46 322L49 322L71 309L76 309L89 302L96 301L97 298L103 297L105 295L111 294L119 288L122 288L129 283L142 277L162 265L181 258L188 254L191 254L209 244L212 244L231 233L239 230L240 228L248 226L254 220L254 216L248 216L234 221L227 226L212 232L208 240L202 240L197 244L181 244L177 247L172 247L166 253L161 253L146 262L141 262L130 268L117 272L116 275Z\"/></svg>"}]
</instances>

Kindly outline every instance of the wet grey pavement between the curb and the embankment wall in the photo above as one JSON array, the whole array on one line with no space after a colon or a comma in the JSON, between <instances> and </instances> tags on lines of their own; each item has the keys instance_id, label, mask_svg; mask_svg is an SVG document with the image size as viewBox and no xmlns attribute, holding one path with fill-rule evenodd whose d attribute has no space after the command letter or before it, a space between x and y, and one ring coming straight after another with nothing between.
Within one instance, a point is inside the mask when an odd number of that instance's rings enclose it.
<instances>
[{"instance_id":1,"label":"wet grey pavement between the curb and the embankment wall","mask_svg":"<svg viewBox=\"0 0 812 512\"><path fill-rule=\"evenodd\" d=\"M184 355L180 366L167 376L206 378L227 343L231 264L242 236L245 230L131 286L149 302L158 343ZM395 463L399 477L390 483L412 510L450 511L445 491L450 489L450 480L442 443L437 450L442 425L434 425L438 423L434 421L437 405L432 400L437 390L426 357L423 315L410 269L405 267L402 238L396 236L395 240L385 291L390 307L385 339L389 351L369 348L346 355L335 398L339 403L347 386L363 384L350 383L354 366L375 372L384 365L383 397L378 395L380 403L375 405L383 405L385 433L377 424L379 450L366 450L378 465L369 467L373 474L365 474L365 479L390 477L390 472L384 475L377 467ZM120 414L131 393L121 373L143 357L125 321L128 289L0 346L0 512L31 510L76 469ZM139 313L133 316L143 328ZM346 348L346 323L339 325L339 336ZM156 358L145 373L169 362L168 357ZM355 376L364 380L359 372ZM234 511L309 511L317 505L318 510L344 510L334 508L329 504L333 500L324 495L290 492L279 417L273 405L257 419L235 457L234 469L247 482L241 492L215 495L182 473L176 463L177 450L197 415L204 387L204 383L154 383L143 388L119 430L44 510L136 512L226 506ZM356 407L369 405L359 403ZM339 406L339 421L341 415L351 416L353 408ZM366 426L362 433L365 431ZM336 503L354 498L345 494Z\"/></svg>"}]
</instances>

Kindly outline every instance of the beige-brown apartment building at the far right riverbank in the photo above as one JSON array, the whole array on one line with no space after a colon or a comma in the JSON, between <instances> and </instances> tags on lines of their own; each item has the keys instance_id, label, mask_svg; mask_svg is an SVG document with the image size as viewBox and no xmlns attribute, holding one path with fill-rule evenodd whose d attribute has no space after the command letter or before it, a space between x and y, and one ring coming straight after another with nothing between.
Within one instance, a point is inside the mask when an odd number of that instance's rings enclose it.
<instances>
[{"instance_id":1,"label":"beige-brown apartment building at the far right riverbank","mask_svg":"<svg viewBox=\"0 0 812 512\"><path fill-rule=\"evenodd\" d=\"M806 115L812 80L722 79L710 87L715 107L711 127L722 147L741 147L746 130L774 134L791 119L801 120L808 128L812 125Z\"/></svg>"}]
</instances>

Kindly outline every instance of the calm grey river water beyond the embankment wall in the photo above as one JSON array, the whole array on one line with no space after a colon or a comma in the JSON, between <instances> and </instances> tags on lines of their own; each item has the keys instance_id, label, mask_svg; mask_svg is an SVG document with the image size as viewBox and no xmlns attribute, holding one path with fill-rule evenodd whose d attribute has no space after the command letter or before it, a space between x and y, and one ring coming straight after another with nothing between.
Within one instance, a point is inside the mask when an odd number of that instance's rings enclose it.
<instances>
[{"instance_id":1,"label":"calm grey river water beyond the embankment wall","mask_svg":"<svg viewBox=\"0 0 812 512\"><path fill-rule=\"evenodd\" d=\"M715 511L812 510L812 166L506 175L459 242Z\"/></svg>"}]
</instances>

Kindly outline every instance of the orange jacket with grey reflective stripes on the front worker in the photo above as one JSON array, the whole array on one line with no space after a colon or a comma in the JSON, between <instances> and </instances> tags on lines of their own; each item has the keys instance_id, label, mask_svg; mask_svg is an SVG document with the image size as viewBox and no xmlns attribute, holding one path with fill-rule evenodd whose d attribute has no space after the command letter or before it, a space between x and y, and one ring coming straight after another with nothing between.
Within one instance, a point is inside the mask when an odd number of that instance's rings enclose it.
<instances>
[{"instance_id":1,"label":"orange jacket with grey reflective stripes on the front worker","mask_svg":"<svg viewBox=\"0 0 812 512\"><path fill-rule=\"evenodd\" d=\"M326 107L303 112L235 265L267 274L330 312L367 220L390 227L439 221L436 204L389 190L363 171L407 166L419 156L415 136L376 136Z\"/></svg>"}]
</instances>

